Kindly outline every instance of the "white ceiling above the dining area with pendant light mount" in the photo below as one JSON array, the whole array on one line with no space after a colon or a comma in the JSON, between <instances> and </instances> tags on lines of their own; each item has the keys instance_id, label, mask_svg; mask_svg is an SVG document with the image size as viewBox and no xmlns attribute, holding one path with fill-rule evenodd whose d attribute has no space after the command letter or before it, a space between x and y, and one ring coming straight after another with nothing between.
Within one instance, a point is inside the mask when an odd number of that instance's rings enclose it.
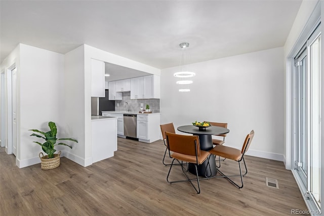
<instances>
[{"instance_id":1,"label":"white ceiling above the dining area with pendant light mount","mask_svg":"<svg viewBox=\"0 0 324 216\"><path fill-rule=\"evenodd\" d=\"M156 68L284 46L301 0L0 1L1 62L23 43L58 53L87 44Z\"/></svg>"}]
</instances>

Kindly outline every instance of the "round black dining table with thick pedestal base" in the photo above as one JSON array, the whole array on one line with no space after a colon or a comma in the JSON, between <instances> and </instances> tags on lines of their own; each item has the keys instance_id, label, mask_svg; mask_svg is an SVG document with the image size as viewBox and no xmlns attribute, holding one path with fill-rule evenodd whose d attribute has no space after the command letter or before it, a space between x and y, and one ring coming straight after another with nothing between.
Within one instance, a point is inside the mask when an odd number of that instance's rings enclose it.
<instances>
[{"instance_id":1,"label":"round black dining table with thick pedestal base","mask_svg":"<svg viewBox=\"0 0 324 216\"><path fill-rule=\"evenodd\" d=\"M177 128L177 130L184 133L191 133L192 135L197 135L199 137L200 150L209 151L213 149L212 135L226 134L229 132L227 128L211 126L204 128L202 130L194 125L184 125ZM209 169L208 161L211 166ZM211 155L208 160L203 164L197 166L198 175L204 177L211 177L217 174L215 155ZM194 164L189 163L189 172L195 174Z\"/></svg>"}]
</instances>

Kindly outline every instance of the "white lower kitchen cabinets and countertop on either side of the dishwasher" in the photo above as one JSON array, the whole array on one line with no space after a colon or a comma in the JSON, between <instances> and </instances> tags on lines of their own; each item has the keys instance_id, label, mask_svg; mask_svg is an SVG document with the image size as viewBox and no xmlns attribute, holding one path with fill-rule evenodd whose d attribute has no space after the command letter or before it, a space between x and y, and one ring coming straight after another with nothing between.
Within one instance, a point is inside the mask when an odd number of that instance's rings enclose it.
<instances>
[{"instance_id":1,"label":"white lower kitchen cabinets and countertop on either side of the dishwasher","mask_svg":"<svg viewBox=\"0 0 324 216\"><path fill-rule=\"evenodd\" d=\"M138 141L151 143L160 139L160 113L139 113L139 112L126 112L126 111L103 111L102 116L117 117L117 135L126 138L125 127L129 127L127 122L124 121L124 116L135 115L135 130Z\"/></svg>"}]
</instances>

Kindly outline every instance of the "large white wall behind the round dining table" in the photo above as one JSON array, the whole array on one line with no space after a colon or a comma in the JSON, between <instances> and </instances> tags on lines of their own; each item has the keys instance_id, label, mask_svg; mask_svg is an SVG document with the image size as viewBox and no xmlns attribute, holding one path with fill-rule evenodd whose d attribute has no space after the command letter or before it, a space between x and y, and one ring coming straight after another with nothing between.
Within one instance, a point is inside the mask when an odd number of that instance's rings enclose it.
<instances>
[{"instance_id":1,"label":"large white wall behind the round dining table","mask_svg":"<svg viewBox=\"0 0 324 216\"><path fill-rule=\"evenodd\" d=\"M178 67L161 70L161 124L175 127L197 121L227 122L226 145L241 148L255 130L248 155L283 160L284 49L191 64L190 92L178 92ZM178 131L179 132L179 131ZM180 133L180 132L179 132Z\"/></svg>"}]
</instances>

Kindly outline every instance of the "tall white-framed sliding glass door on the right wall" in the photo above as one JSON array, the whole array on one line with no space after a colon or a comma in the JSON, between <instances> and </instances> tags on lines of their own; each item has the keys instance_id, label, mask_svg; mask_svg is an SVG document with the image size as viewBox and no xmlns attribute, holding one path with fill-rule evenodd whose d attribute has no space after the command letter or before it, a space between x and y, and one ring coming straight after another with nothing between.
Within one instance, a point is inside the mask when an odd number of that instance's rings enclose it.
<instances>
[{"instance_id":1,"label":"tall white-framed sliding glass door on the right wall","mask_svg":"<svg viewBox=\"0 0 324 216\"><path fill-rule=\"evenodd\" d=\"M320 58L319 27L295 56L294 165L305 196L320 207Z\"/></svg>"}]
</instances>

